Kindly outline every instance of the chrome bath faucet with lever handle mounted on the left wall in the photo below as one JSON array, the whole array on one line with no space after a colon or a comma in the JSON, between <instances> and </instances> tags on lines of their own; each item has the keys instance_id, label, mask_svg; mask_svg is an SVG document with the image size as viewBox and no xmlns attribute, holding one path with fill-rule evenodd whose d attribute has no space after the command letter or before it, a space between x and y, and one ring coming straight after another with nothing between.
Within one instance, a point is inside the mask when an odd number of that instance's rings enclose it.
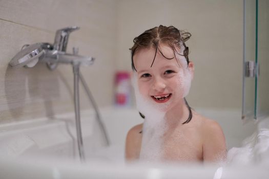
<instances>
[{"instance_id":1,"label":"chrome bath faucet with lever handle mounted on the left wall","mask_svg":"<svg viewBox=\"0 0 269 179\"><path fill-rule=\"evenodd\" d=\"M58 63L93 64L93 57L80 56L77 55L77 52L66 53L69 34L78 29L79 27L72 26L57 30L53 45L45 42L24 45L9 64L12 67L25 66L31 68L40 61L46 62L50 70L55 70Z\"/></svg>"}]
</instances>

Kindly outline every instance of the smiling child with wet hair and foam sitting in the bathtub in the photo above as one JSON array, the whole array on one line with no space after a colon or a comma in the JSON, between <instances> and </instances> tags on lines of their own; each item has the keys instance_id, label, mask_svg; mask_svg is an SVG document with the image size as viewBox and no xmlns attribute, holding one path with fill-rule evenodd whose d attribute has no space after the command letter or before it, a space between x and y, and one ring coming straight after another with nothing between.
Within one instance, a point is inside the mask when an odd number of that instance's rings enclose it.
<instances>
[{"instance_id":1,"label":"smiling child with wet hair and foam sitting in the bathtub","mask_svg":"<svg viewBox=\"0 0 269 179\"><path fill-rule=\"evenodd\" d=\"M159 26L134 38L132 84L144 122L128 132L128 161L225 159L225 138L219 124L197 114L185 100L194 75L185 45L190 37L173 26Z\"/></svg>"}]
</instances>

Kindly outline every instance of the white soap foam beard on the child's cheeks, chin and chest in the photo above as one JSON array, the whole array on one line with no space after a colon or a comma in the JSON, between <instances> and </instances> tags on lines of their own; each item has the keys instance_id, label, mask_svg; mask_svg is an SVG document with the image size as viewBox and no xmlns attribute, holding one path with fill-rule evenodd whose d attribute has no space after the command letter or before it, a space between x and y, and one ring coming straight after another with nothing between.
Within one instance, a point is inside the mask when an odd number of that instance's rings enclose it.
<instances>
[{"instance_id":1,"label":"white soap foam beard on the child's cheeks, chin and chest","mask_svg":"<svg viewBox=\"0 0 269 179\"><path fill-rule=\"evenodd\" d=\"M185 60L185 58L180 58ZM177 74L178 81L176 91L178 95L176 100L183 99L188 95L191 86L191 73L188 69L187 61L180 61L183 66ZM137 73L133 73L132 85L135 91L136 105L138 111L145 116L143 123L143 137L140 150L140 160L147 162L160 161L163 155L163 135L168 130L165 122L165 114L171 105L171 100L165 103L156 103L153 100L145 99L138 88ZM176 102L174 102L177 104Z\"/></svg>"}]
</instances>

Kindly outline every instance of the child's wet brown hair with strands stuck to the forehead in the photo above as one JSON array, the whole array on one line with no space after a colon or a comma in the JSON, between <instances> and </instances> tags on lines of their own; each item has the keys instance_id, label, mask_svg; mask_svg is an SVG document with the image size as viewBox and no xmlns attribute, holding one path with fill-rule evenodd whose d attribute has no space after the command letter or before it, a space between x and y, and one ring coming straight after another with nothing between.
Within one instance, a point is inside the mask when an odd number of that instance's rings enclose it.
<instances>
[{"instance_id":1,"label":"child's wet brown hair with strands stuck to the forehead","mask_svg":"<svg viewBox=\"0 0 269 179\"><path fill-rule=\"evenodd\" d=\"M185 59L187 60L187 63L189 64L189 48L186 46L185 41L189 40L190 37L191 37L191 33L178 30L174 26L166 27L166 26L160 25L159 27L154 27L152 29L144 31L142 34L134 38L133 40L134 45L132 48L130 48L131 55L132 55L132 69L136 71L133 57L135 53L137 53L141 49L149 49L149 48L155 49L155 55L154 55L151 67L154 63L154 60L158 51L163 57L165 57L160 49L160 44L166 45L174 51L173 58L176 59L177 63L178 63L178 60L176 58L176 53L178 55L184 56ZM177 49L179 49L180 52L178 52ZM165 58L173 59L173 58L168 58L168 57L165 57ZM191 107L189 106L185 98L184 98L184 101L189 109L189 117L182 124L189 123L192 119ZM142 118L145 118L144 115L142 115L140 112L139 114Z\"/></svg>"}]
</instances>

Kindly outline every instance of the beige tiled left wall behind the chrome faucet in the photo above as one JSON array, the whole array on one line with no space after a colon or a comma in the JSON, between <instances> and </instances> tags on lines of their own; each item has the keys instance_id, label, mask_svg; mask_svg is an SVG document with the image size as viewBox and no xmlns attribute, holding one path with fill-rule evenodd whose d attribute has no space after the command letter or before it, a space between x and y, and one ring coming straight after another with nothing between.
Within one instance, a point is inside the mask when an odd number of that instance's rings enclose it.
<instances>
[{"instance_id":1,"label":"beige tiled left wall behind the chrome faucet","mask_svg":"<svg viewBox=\"0 0 269 179\"><path fill-rule=\"evenodd\" d=\"M11 69L12 57L24 44L54 42L57 29L79 26L72 32L67 52L96 58L94 65L81 67L99 106L111 105L117 43L115 1L0 1L0 123L52 117L73 111L73 71L58 65L49 71L45 64ZM81 108L90 108L80 86Z\"/></svg>"}]
</instances>

